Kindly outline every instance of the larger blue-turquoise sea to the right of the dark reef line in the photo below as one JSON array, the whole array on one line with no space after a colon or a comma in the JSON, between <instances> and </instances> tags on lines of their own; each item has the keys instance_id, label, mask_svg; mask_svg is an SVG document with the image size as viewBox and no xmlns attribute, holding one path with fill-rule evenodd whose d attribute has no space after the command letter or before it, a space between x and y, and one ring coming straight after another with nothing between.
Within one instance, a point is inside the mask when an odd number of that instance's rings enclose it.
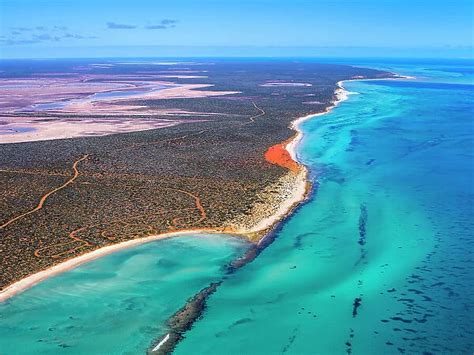
<instances>
[{"instance_id":1,"label":"larger blue-turquoise sea to the right of the dark reef line","mask_svg":"<svg viewBox=\"0 0 474 355\"><path fill-rule=\"evenodd\" d=\"M176 354L472 353L472 75L418 65L304 123L315 194Z\"/></svg>"}]
</instances>

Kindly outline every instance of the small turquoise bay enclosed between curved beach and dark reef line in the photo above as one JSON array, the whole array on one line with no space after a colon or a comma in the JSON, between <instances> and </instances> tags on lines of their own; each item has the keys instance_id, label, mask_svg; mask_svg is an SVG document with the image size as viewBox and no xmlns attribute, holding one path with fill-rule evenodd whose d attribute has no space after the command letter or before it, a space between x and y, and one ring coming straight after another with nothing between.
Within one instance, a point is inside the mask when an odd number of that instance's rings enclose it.
<instances>
[{"instance_id":1,"label":"small turquoise bay enclosed between curved beach and dark reef line","mask_svg":"<svg viewBox=\"0 0 474 355\"><path fill-rule=\"evenodd\" d=\"M0 303L0 354L137 354L247 244L165 239L108 255Z\"/></svg>"}]
</instances>

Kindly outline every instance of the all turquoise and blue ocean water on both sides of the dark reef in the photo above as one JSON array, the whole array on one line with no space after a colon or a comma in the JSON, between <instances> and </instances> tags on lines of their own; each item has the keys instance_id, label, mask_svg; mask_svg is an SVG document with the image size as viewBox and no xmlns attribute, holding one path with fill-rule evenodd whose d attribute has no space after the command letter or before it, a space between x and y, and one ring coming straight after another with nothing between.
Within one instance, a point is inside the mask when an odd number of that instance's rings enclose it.
<instances>
[{"instance_id":1,"label":"all turquoise and blue ocean water on both sides of the dark reef","mask_svg":"<svg viewBox=\"0 0 474 355\"><path fill-rule=\"evenodd\" d=\"M360 65L418 79L347 82L348 101L301 126L311 199L176 354L474 351L472 63ZM144 351L245 249L170 239L47 280L0 305L0 353Z\"/></svg>"}]
</instances>

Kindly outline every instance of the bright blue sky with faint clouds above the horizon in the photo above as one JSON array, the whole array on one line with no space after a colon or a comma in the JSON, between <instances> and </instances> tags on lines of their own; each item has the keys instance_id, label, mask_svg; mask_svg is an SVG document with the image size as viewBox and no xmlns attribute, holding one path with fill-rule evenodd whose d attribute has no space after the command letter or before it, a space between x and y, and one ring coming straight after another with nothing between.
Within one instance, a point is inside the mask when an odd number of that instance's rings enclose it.
<instances>
[{"instance_id":1,"label":"bright blue sky with faint clouds above the horizon","mask_svg":"<svg viewBox=\"0 0 474 355\"><path fill-rule=\"evenodd\" d=\"M0 58L472 57L474 0L0 0Z\"/></svg>"}]
</instances>

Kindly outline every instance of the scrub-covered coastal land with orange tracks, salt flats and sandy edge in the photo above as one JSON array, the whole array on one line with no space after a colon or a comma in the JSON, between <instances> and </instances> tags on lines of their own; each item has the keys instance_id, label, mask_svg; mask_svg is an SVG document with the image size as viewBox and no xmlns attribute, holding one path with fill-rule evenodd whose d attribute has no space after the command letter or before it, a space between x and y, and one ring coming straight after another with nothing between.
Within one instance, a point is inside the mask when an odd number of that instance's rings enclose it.
<instances>
[{"instance_id":1,"label":"scrub-covered coastal land with orange tracks, salt flats and sandy edge","mask_svg":"<svg viewBox=\"0 0 474 355\"><path fill-rule=\"evenodd\" d=\"M341 80L393 76L314 63L108 64L81 63L87 78L77 63L0 77L3 101L15 85L18 98L45 77L75 78L59 80L70 89L61 104L53 90L2 106L0 301L88 260L183 233L261 243L309 190L296 159L298 122L340 100ZM74 129L62 139L65 124Z\"/></svg>"}]
</instances>

